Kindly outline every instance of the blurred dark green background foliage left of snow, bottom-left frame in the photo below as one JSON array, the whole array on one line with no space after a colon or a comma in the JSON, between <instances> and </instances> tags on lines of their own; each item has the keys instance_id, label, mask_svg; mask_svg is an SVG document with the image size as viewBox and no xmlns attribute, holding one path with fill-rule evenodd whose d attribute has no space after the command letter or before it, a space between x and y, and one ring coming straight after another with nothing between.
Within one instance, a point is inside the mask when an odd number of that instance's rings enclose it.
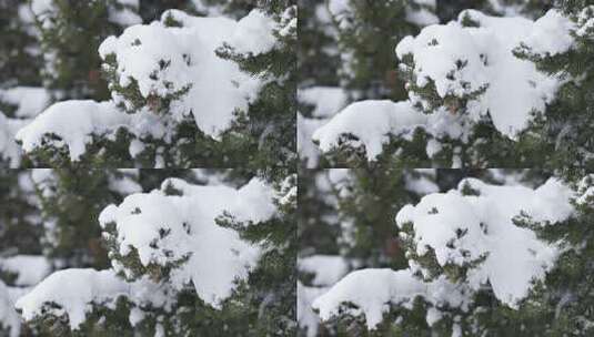
<instances>
[{"instance_id":1,"label":"blurred dark green background foliage left of snow, bottom-left frame","mask_svg":"<svg viewBox=\"0 0 594 337\"><path fill-rule=\"evenodd\" d=\"M49 257L61 261L63 267L108 266L98 218L104 207L122 201L124 195L110 190L122 175L104 168L64 166L38 184L42 216L51 224L46 242Z\"/></svg>"}]
</instances>

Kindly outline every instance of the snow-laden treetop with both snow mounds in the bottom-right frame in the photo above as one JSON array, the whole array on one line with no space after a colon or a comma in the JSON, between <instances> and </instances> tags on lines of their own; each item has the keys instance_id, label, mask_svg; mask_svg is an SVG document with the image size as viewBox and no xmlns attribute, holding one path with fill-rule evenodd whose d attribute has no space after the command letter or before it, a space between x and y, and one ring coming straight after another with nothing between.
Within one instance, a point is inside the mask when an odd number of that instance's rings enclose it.
<instances>
[{"instance_id":1,"label":"snow-laden treetop with both snow mounds in the bottom-right frame","mask_svg":"<svg viewBox=\"0 0 594 337\"><path fill-rule=\"evenodd\" d=\"M407 269L353 272L313 307L324 320L364 315L369 328L391 306L412 309L417 297L430 304L430 326L452 308L467 312L474 295L487 288L502 304L517 308L561 252L524 224L561 225L575 212L574 196L555 178L535 190L466 178L456 190L427 194L396 216Z\"/></svg>"}]
</instances>

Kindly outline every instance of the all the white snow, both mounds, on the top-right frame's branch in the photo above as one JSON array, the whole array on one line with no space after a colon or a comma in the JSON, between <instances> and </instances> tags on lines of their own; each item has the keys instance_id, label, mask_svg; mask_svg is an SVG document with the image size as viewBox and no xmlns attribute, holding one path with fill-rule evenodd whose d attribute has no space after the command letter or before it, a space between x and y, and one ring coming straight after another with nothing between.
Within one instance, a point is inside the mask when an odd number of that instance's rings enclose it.
<instances>
[{"instance_id":1,"label":"all the white snow, both mounds, on the top-right frame's branch","mask_svg":"<svg viewBox=\"0 0 594 337\"><path fill-rule=\"evenodd\" d=\"M463 27L466 17L480 27ZM364 145L373 161L390 135L406 137L423 127L435 137L426 149L433 156L440 151L440 137L466 142L472 125L487 114L497 131L515 139L532 121L531 113L543 111L554 99L561 80L538 72L534 63L517 59L513 50L524 45L538 53L565 52L574 43L572 28L571 21L554 10L535 22L467 10L459 21L429 25L417 37L404 38L396 54L400 59L412 57L415 84L423 88L434 83L442 99L485 90L469 101L464 114L452 113L446 106L424 114L415 106L427 110L430 105L410 92L409 102L355 102L318 129L313 140L323 152L344 142L354 147Z\"/></svg>"}]
</instances>

